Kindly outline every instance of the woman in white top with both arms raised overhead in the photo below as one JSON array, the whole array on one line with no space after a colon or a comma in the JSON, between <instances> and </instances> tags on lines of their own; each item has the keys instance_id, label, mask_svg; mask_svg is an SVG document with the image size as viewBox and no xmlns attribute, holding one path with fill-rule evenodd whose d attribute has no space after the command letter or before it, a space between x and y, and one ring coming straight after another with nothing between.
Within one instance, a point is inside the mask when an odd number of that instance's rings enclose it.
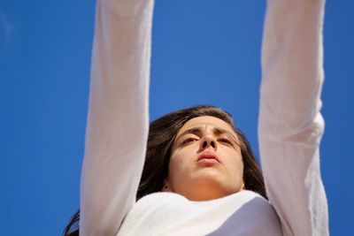
<instances>
[{"instance_id":1,"label":"woman in white top with both arms raised overhead","mask_svg":"<svg viewBox=\"0 0 354 236\"><path fill-rule=\"evenodd\" d=\"M216 108L161 118L146 149L152 10L152 0L97 2L81 235L327 235L324 0L268 0L258 120L266 193L247 141Z\"/></svg>"}]
</instances>

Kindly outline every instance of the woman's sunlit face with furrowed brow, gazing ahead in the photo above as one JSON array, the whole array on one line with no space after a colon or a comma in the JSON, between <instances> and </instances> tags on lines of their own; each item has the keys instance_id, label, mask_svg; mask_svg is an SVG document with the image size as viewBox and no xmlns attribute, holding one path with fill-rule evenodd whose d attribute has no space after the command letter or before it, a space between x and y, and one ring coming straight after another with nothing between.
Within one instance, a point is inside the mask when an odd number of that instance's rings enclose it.
<instances>
[{"instance_id":1,"label":"woman's sunlit face with furrowed brow, gazing ahead","mask_svg":"<svg viewBox=\"0 0 354 236\"><path fill-rule=\"evenodd\" d=\"M237 134L214 117L190 119L173 142L165 191L204 201L234 194L243 187Z\"/></svg>"}]
</instances>

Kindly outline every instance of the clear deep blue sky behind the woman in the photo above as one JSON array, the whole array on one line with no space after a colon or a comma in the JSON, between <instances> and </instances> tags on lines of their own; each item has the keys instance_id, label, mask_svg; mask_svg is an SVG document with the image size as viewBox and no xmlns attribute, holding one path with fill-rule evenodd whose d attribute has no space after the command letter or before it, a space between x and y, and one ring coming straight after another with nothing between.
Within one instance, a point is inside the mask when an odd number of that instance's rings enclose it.
<instances>
[{"instance_id":1,"label":"clear deep blue sky behind the woman","mask_svg":"<svg viewBox=\"0 0 354 236\"><path fill-rule=\"evenodd\" d=\"M157 0L150 118L201 103L258 154L266 1ZM321 172L331 235L354 232L354 2L327 1ZM79 207L93 0L0 1L0 235L59 235Z\"/></svg>"}]
</instances>

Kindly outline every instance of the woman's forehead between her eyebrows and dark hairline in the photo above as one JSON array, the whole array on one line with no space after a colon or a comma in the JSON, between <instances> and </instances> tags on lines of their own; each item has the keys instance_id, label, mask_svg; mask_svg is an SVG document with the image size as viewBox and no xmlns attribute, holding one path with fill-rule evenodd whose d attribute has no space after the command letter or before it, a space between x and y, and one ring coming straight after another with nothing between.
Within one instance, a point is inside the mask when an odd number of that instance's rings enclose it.
<instances>
[{"instance_id":1,"label":"woman's forehead between her eyebrows and dark hairline","mask_svg":"<svg viewBox=\"0 0 354 236\"><path fill-rule=\"evenodd\" d=\"M195 128L195 127L204 128L207 126L221 128L223 130L227 130L230 133L234 133L235 136L237 136L234 129L230 125L228 125L227 122L225 122L224 120L222 120L220 118L214 118L214 117L210 117L210 116L189 119L189 121L187 121L186 124L184 124L184 126L181 127L181 129L177 133L177 135L180 133L183 133L184 131L189 130L191 128Z\"/></svg>"}]
</instances>

